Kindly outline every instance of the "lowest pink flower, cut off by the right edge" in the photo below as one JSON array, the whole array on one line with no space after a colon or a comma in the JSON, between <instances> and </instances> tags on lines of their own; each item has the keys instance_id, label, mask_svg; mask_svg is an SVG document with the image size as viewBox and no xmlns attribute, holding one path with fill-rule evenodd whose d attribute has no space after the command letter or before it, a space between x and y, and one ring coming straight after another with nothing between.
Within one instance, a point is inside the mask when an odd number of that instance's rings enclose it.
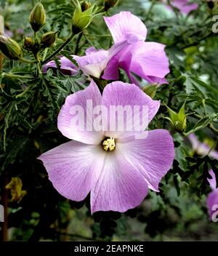
<instances>
[{"instance_id":1,"label":"lowest pink flower, cut off by the right edge","mask_svg":"<svg viewBox=\"0 0 218 256\"><path fill-rule=\"evenodd\" d=\"M208 181L212 191L209 193L206 203L209 209L209 216L213 220L214 213L217 212L217 216L215 217L218 217L218 188L214 171L210 170L209 174L211 175L211 179L208 179Z\"/></svg>"}]
</instances>

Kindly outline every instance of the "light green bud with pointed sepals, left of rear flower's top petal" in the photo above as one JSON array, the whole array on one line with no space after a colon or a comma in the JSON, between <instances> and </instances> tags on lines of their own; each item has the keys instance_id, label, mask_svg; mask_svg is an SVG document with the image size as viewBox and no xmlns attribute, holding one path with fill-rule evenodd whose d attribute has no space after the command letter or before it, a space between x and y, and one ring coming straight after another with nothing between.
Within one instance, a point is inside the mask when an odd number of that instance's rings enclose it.
<instances>
[{"instance_id":1,"label":"light green bud with pointed sepals, left of rear flower's top petal","mask_svg":"<svg viewBox=\"0 0 218 256\"><path fill-rule=\"evenodd\" d=\"M76 35L81 31L84 31L84 29L87 28L88 25L92 22L92 12L94 6L82 12L81 5L79 4L78 0L73 0L73 3L76 8L73 13L72 32Z\"/></svg>"}]
</instances>

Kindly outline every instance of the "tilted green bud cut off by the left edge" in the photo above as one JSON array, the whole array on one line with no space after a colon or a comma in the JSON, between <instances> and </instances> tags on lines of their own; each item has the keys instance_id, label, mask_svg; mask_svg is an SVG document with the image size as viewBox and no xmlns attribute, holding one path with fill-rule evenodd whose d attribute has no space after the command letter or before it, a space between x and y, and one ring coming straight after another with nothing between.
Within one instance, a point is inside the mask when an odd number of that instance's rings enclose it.
<instances>
[{"instance_id":1,"label":"tilted green bud cut off by the left edge","mask_svg":"<svg viewBox=\"0 0 218 256\"><path fill-rule=\"evenodd\" d=\"M20 45L7 36L0 36L0 50L10 60L19 60L22 57Z\"/></svg>"}]
</instances>

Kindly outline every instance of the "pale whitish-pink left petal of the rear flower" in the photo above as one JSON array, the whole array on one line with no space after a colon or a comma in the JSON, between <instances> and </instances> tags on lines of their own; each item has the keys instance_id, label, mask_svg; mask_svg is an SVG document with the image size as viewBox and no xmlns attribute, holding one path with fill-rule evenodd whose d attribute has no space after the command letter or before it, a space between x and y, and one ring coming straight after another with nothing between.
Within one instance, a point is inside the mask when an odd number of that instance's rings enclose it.
<instances>
[{"instance_id":1,"label":"pale whitish-pink left petal of the rear flower","mask_svg":"<svg viewBox=\"0 0 218 256\"><path fill-rule=\"evenodd\" d=\"M78 63L81 71L84 71L86 75L100 78L109 60L128 45L129 43L127 41L121 41L114 44L108 51L104 49L97 50L91 47L87 49L85 56L79 57L73 55L73 58Z\"/></svg>"}]
</instances>

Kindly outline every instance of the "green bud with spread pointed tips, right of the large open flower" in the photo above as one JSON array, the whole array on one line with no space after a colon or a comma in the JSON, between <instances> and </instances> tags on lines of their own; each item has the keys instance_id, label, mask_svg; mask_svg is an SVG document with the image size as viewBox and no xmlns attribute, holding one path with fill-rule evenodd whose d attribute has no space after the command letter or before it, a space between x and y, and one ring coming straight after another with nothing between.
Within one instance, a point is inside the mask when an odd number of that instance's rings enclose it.
<instances>
[{"instance_id":1,"label":"green bud with spread pointed tips, right of the large open flower","mask_svg":"<svg viewBox=\"0 0 218 256\"><path fill-rule=\"evenodd\" d=\"M167 107L167 106L166 106ZM185 103L179 110L179 113L172 111L171 108L167 107L169 112L169 117L166 117L171 123L171 126L174 127L176 132L182 133L185 132L187 128L186 116L185 114Z\"/></svg>"}]
</instances>

